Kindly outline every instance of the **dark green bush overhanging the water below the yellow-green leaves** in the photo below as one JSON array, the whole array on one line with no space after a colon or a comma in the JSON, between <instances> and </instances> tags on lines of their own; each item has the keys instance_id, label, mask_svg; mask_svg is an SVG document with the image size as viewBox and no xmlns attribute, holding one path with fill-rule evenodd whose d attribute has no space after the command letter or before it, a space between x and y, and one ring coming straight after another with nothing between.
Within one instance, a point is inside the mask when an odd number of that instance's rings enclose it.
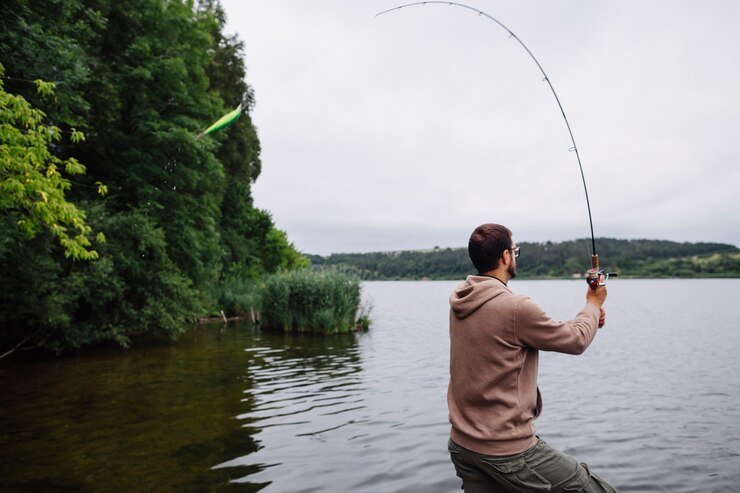
<instances>
[{"instance_id":1,"label":"dark green bush overhanging the water below the yellow-green leaves","mask_svg":"<svg viewBox=\"0 0 740 493\"><path fill-rule=\"evenodd\" d=\"M96 218L103 210L90 212ZM55 352L108 340L127 346L143 334L175 338L186 328L184 320L203 312L202 294L169 260L164 233L152 219L132 212L103 217L100 225L109 241L94 262L59 262L43 236L0 244L0 262L13 286L0 292L5 338L26 327ZM18 244L23 249L12 248Z\"/></svg>"}]
</instances>

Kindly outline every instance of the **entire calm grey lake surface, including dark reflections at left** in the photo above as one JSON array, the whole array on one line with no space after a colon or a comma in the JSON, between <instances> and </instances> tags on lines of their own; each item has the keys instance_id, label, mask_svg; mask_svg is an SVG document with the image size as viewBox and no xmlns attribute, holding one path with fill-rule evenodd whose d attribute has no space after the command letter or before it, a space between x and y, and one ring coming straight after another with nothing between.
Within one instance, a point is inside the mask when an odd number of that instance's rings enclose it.
<instances>
[{"instance_id":1,"label":"entire calm grey lake surface, including dark reflections at left","mask_svg":"<svg viewBox=\"0 0 740 493\"><path fill-rule=\"evenodd\" d=\"M455 282L369 282L369 332L201 325L176 344L0 361L0 491L460 491ZM572 318L583 281L512 281ZM581 356L542 353L539 434L622 491L740 492L740 280L614 280Z\"/></svg>"}]
</instances>

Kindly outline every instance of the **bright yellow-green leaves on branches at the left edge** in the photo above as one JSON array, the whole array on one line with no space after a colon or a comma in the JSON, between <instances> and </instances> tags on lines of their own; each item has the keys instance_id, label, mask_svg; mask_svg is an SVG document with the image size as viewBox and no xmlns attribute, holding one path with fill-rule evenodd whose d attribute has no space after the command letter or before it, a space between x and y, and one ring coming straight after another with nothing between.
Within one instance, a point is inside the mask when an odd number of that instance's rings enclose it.
<instances>
[{"instance_id":1,"label":"bright yellow-green leaves on branches at the left edge","mask_svg":"<svg viewBox=\"0 0 740 493\"><path fill-rule=\"evenodd\" d=\"M0 77L4 72L0 64ZM53 94L53 84L37 80L36 85L40 93ZM98 253L90 248L92 228L85 213L67 200L70 181L62 174L82 175L85 167L73 157L52 154L62 134L58 127L43 123L45 116L22 96L5 92L0 78L0 213L13 219L28 238L47 229L67 257L96 259ZM84 135L73 130L72 141L82 140ZM102 184L99 191L105 194Z\"/></svg>"}]
</instances>

